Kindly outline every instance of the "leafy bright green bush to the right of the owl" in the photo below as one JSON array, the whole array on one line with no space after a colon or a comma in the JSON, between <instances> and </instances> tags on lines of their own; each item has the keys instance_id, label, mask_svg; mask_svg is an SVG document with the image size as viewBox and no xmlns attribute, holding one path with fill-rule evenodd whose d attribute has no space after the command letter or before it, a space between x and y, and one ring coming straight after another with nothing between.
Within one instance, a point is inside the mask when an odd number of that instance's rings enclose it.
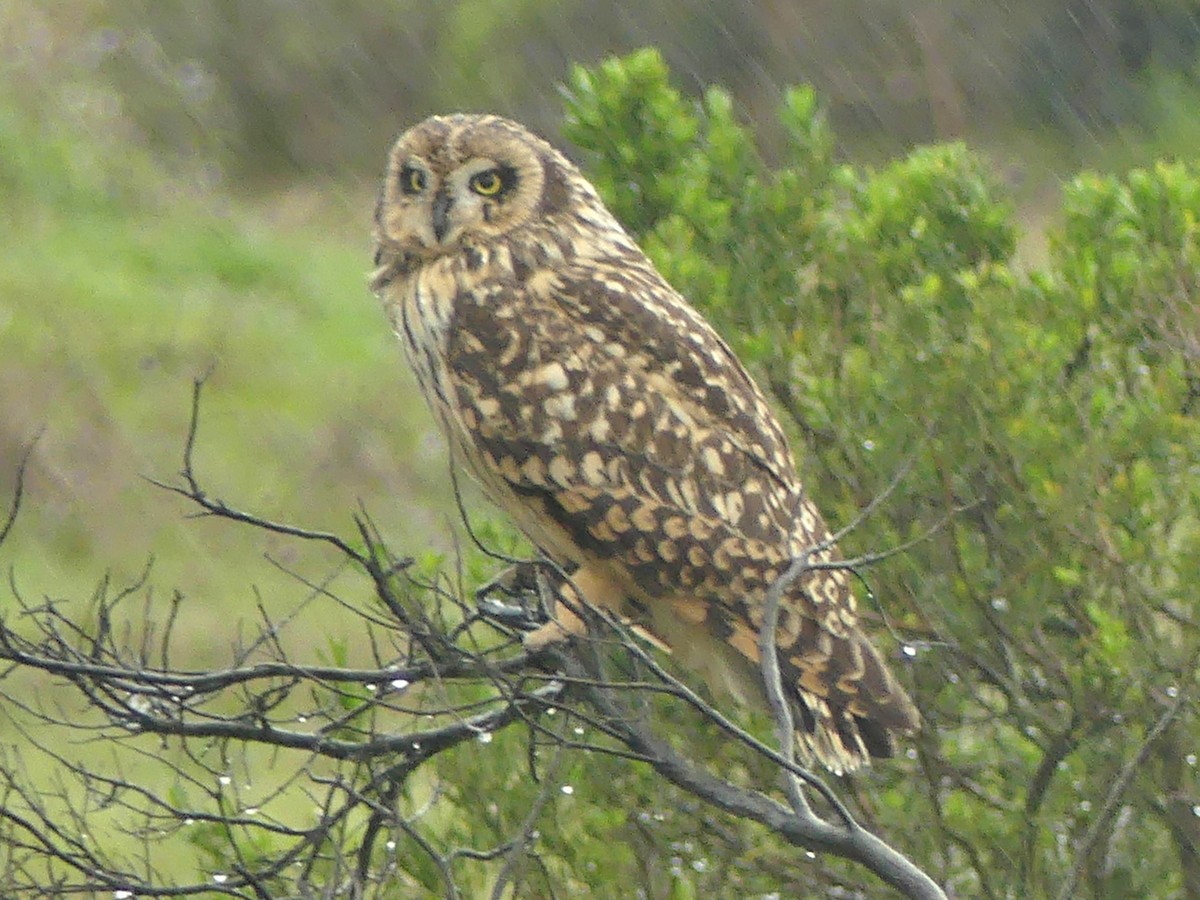
<instances>
[{"instance_id":1,"label":"leafy bright green bush to the right of the owl","mask_svg":"<svg viewBox=\"0 0 1200 900\"><path fill-rule=\"evenodd\" d=\"M839 164L811 91L768 166L654 52L576 68L565 133L788 414L925 727L864 787L964 895L1200 890L1200 169L1066 185L1014 259L985 158ZM870 606L870 604L868 604ZM888 637L882 637L888 642ZM913 826L919 823L919 828Z\"/></svg>"}]
</instances>

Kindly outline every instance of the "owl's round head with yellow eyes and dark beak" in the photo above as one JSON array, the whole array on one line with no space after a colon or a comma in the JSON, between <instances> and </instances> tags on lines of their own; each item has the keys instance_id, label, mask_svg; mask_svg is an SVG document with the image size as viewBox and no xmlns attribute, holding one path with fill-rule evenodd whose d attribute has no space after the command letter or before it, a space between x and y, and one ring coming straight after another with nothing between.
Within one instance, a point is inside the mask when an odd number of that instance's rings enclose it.
<instances>
[{"instance_id":1,"label":"owl's round head with yellow eyes and dark beak","mask_svg":"<svg viewBox=\"0 0 1200 900\"><path fill-rule=\"evenodd\" d=\"M394 253L428 259L496 241L581 199L599 203L577 169L521 125L494 115L432 116L391 149L376 236Z\"/></svg>"}]
</instances>

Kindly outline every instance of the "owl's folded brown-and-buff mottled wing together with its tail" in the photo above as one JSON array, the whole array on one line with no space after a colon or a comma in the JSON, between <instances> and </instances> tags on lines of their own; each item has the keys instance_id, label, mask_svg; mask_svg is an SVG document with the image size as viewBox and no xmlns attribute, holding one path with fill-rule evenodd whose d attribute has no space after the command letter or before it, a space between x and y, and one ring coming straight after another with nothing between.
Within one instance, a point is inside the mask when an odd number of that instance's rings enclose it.
<instances>
[{"instance_id":1,"label":"owl's folded brown-and-buff mottled wing together with its tail","mask_svg":"<svg viewBox=\"0 0 1200 900\"><path fill-rule=\"evenodd\" d=\"M756 673L767 588L828 532L740 362L644 264L491 290L456 304L449 368L478 463L520 506L509 511L542 546L538 523L552 522L576 562L617 563ZM839 770L917 724L856 619L845 572L814 570L776 630L800 746Z\"/></svg>"}]
</instances>

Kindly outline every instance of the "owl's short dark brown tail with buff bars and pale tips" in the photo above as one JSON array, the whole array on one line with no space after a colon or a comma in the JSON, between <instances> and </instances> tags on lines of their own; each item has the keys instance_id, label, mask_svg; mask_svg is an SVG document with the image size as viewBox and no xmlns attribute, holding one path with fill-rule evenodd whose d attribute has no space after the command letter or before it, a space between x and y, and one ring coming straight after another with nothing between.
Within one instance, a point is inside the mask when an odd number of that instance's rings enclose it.
<instances>
[{"instance_id":1,"label":"owl's short dark brown tail with buff bars and pale tips","mask_svg":"<svg viewBox=\"0 0 1200 900\"><path fill-rule=\"evenodd\" d=\"M829 638L779 661L799 758L840 775L893 756L894 736L917 731L920 715L865 635Z\"/></svg>"}]
</instances>

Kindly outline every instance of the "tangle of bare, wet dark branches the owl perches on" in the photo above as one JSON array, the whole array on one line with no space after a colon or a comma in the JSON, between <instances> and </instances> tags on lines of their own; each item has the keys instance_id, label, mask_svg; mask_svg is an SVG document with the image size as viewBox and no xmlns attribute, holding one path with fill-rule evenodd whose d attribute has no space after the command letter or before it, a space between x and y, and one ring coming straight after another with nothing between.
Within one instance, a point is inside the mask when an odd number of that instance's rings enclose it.
<instances>
[{"instance_id":1,"label":"tangle of bare, wet dark branches the owl perches on","mask_svg":"<svg viewBox=\"0 0 1200 900\"><path fill-rule=\"evenodd\" d=\"M539 822L569 755L604 754L647 763L701 803L758 822L797 847L858 862L907 896L943 896L863 828L829 785L797 766L790 739L776 750L721 715L619 623L593 617L599 620L590 640L534 659L510 623L485 617L460 590L420 576L410 557L391 553L365 510L354 518L356 538L347 540L274 522L210 494L193 463L202 388L203 379L192 395L180 481L154 484L184 497L199 515L334 547L342 568L366 578L368 606L337 594L329 580L296 578L308 600L332 600L360 618L374 665L296 662L280 640L290 617L272 620L258 601L259 634L235 652L232 665L184 671L170 664L184 598L176 593L166 614L154 614L144 583L149 570L120 589L103 581L85 614L66 602L30 602L12 582L16 611L0 620L0 660L7 664L0 679L13 684L20 673L38 673L53 677L59 689L38 697L8 688L0 691L0 712L28 748L53 761L58 775L52 790L30 784L20 775L25 757L4 751L5 884L59 894L239 898L386 896L420 886L454 898L463 895L466 865L493 862L499 869L491 894L499 898L530 872L551 883L539 862ZM23 461L0 541L17 520L24 468ZM773 588L764 647L774 647L780 593L805 568L806 557L796 560ZM138 610L133 605L143 594ZM152 635L155 620L161 624ZM139 623L144 636L137 641ZM624 660L623 672L632 667L641 674L614 677L614 660ZM773 664L774 653L764 654L779 731L790 736ZM720 778L655 736L647 713L655 697L678 701L782 773L790 804L774 799L770 785ZM548 719L554 713L560 718ZM577 727L568 730L568 721ZM52 730L73 734L73 745L44 737ZM494 846L448 844L426 826L438 790L425 802L415 799L416 785L437 780L425 764L464 744L522 731L539 790L518 826ZM584 732L592 737L578 737ZM264 752L275 760L270 768L286 775L254 796L250 784L256 767L265 764ZM173 782L169 791L144 780L151 766ZM282 806L296 796L308 798L313 818L296 823L266 814L272 803ZM140 851L112 850L98 836L106 829ZM206 853L210 868L198 881L176 883L162 871L157 848L179 836ZM400 845L408 850L401 853Z\"/></svg>"}]
</instances>

